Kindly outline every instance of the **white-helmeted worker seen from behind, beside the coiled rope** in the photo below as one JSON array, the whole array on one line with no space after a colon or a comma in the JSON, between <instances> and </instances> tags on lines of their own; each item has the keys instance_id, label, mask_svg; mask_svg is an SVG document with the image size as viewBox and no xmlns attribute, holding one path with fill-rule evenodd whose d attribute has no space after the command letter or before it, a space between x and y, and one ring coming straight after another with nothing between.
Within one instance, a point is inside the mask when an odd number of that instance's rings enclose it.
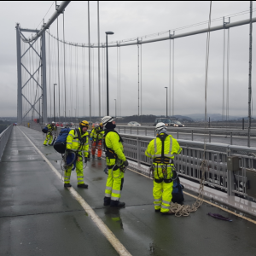
<instances>
[{"instance_id":1,"label":"white-helmeted worker seen from behind, beside the coiled rope","mask_svg":"<svg viewBox=\"0 0 256 256\"><path fill-rule=\"evenodd\" d=\"M172 201L174 154L180 154L177 140L172 135L166 134L166 124L158 123L155 126L158 133L156 138L148 144L145 154L153 159L154 168L154 210L163 215L171 215L175 212L170 210Z\"/></svg>"}]
</instances>

